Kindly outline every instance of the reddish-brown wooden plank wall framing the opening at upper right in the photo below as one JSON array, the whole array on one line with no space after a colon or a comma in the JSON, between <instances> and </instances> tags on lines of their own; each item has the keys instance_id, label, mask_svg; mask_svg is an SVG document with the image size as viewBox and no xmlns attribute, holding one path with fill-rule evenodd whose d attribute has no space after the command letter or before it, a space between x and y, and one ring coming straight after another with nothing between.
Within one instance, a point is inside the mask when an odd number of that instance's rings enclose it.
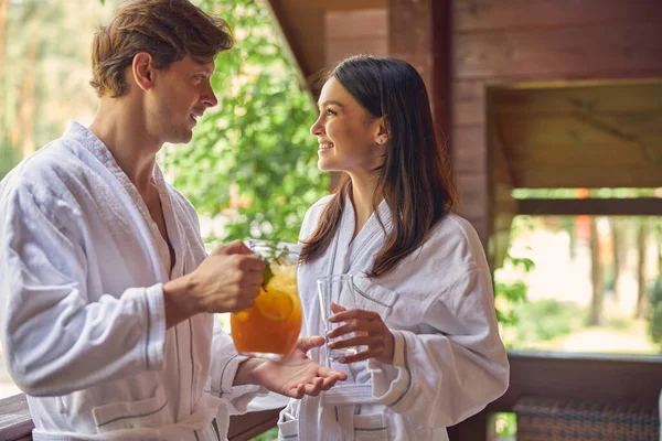
<instances>
[{"instance_id":1,"label":"reddish-brown wooden plank wall framing the opening at upper right","mask_svg":"<svg viewBox=\"0 0 662 441\"><path fill-rule=\"evenodd\" d=\"M662 76L662 1L455 0L452 19L453 163L461 214L487 244L487 87Z\"/></svg>"}]
</instances>

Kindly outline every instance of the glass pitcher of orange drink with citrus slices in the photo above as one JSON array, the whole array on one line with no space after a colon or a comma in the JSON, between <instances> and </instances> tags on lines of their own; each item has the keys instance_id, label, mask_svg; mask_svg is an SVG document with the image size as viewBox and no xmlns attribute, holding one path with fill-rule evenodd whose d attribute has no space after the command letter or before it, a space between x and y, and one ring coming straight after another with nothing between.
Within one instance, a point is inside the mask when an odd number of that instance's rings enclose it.
<instances>
[{"instance_id":1,"label":"glass pitcher of orange drink with citrus slices","mask_svg":"<svg viewBox=\"0 0 662 441\"><path fill-rule=\"evenodd\" d=\"M301 332L297 293L301 246L250 239L248 248L267 263L265 282L253 306L231 314L232 340L239 354L279 361L292 352Z\"/></svg>"}]
</instances>

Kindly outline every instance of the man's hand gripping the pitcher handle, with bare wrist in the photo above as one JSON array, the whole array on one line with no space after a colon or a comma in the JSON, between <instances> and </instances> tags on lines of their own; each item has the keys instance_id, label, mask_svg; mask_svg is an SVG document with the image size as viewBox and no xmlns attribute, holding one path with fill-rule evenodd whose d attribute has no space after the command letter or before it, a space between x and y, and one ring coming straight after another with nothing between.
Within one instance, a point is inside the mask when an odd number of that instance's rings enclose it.
<instances>
[{"instance_id":1,"label":"man's hand gripping the pitcher handle, with bare wrist","mask_svg":"<svg viewBox=\"0 0 662 441\"><path fill-rule=\"evenodd\" d=\"M237 312L259 294L265 262L241 240L216 248L190 275L163 286L170 327L200 312Z\"/></svg>"}]
</instances>

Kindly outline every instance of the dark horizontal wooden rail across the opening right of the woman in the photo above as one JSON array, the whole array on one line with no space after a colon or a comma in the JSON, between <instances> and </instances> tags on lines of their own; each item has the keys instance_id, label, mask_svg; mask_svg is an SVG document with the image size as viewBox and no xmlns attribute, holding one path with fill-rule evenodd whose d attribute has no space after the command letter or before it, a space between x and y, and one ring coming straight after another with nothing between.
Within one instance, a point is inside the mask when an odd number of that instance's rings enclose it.
<instances>
[{"instance_id":1,"label":"dark horizontal wooden rail across the opening right of the woman","mask_svg":"<svg viewBox=\"0 0 662 441\"><path fill-rule=\"evenodd\" d=\"M662 216L662 198L517 200L517 214L531 216Z\"/></svg>"}]
</instances>

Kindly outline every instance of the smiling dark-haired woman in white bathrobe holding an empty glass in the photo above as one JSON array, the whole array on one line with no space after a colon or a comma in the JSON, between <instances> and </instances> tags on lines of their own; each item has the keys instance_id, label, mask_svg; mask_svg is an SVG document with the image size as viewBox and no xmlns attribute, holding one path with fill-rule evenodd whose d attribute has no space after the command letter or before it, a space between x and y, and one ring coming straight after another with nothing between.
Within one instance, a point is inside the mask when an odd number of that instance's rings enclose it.
<instances>
[{"instance_id":1,"label":"smiling dark-haired woman in white bathrobe holding an empty glass","mask_svg":"<svg viewBox=\"0 0 662 441\"><path fill-rule=\"evenodd\" d=\"M301 228L303 333L323 332L317 279L351 273L356 308L335 309L344 325L329 336L355 333L333 347L363 349L329 362L348 385L289 402L280 438L446 440L446 427L504 392L509 365L481 243L451 214L425 85L403 61L355 56L335 67L319 109L318 165L343 176Z\"/></svg>"}]
</instances>

